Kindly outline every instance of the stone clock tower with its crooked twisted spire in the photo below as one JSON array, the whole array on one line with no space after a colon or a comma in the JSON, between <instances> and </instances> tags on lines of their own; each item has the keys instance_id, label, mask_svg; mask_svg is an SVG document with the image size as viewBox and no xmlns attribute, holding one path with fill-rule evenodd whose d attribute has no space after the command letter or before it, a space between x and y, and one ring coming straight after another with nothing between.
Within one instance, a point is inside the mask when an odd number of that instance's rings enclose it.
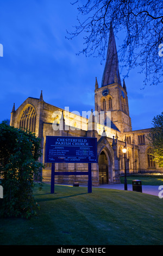
<instances>
[{"instance_id":1,"label":"stone clock tower with its crooked twisted spire","mask_svg":"<svg viewBox=\"0 0 163 256\"><path fill-rule=\"evenodd\" d=\"M95 111L111 119L111 127L122 133L131 131L126 84L121 83L115 36L110 25L109 45L101 88L95 83ZM106 124L105 124L106 125Z\"/></svg>"}]
</instances>

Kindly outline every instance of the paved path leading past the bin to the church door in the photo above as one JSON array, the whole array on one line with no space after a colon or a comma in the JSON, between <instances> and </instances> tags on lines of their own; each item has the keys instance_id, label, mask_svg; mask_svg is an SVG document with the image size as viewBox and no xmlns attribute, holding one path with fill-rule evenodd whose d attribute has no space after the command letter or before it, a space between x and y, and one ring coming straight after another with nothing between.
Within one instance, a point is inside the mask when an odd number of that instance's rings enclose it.
<instances>
[{"instance_id":1,"label":"paved path leading past the bin to the church door","mask_svg":"<svg viewBox=\"0 0 163 256\"><path fill-rule=\"evenodd\" d=\"M103 185L100 185L99 187L110 188L112 190L124 190L124 184L103 184ZM133 185L128 184L127 189L128 191L133 191ZM159 192L160 192L159 186L142 185L142 193L153 194L154 196L158 196Z\"/></svg>"}]
</instances>

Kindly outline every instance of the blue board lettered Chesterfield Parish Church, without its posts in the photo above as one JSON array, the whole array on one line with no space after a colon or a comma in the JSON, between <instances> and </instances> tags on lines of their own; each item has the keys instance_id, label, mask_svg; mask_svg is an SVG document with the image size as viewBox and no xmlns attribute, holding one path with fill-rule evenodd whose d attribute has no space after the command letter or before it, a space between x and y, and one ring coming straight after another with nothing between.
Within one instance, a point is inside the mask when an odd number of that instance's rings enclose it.
<instances>
[{"instance_id":1,"label":"blue board lettered Chesterfield Parish Church, without its posts","mask_svg":"<svg viewBox=\"0 0 163 256\"><path fill-rule=\"evenodd\" d=\"M97 163L97 138L46 136L46 163Z\"/></svg>"}]
</instances>

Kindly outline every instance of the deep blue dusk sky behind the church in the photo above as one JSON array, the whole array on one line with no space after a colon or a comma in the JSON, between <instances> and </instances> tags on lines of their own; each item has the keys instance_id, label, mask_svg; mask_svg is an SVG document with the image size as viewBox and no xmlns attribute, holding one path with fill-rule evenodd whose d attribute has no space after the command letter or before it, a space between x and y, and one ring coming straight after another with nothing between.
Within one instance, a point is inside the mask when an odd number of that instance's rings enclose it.
<instances>
[{"instance_id":1,"label":"deep blue dusk sky behind the church","mask_svg":"<svg viewBox=\"0 0 163 256\"><path fill-rule=\"evenodd\" d=\"M0 7L0 122L10 119L14 102L18 108L27 97L40 97L41 90L43 100L54 106L68 106L81 115L94 110L95 78L101 86L105 63L76 55L83 49L82 35L65 39L66 29L77 24L77 6L70 0L0 0ZM118 49L121 38L116 42ZM163 111L162 84L141 90L138 71L126 78L133 130L151 127L153 117Z\"/></svg>"}]
</instances>

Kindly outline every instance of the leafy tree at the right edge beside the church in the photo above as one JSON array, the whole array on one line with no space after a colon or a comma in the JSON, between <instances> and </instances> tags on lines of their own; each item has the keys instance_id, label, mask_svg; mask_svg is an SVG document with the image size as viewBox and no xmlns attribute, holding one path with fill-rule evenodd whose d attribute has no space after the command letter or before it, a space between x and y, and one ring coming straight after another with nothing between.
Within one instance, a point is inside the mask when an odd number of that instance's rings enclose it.
<instances>
[{"instance_id":1,"label":"leafy tree at the right edge beside the church","mask_svg":"<svg viewBox=\"0 0 163 256\"><path fill-rule=\"evenodd\" d=\"M153 118L153 128L147 136L153 148L154 160L163 167L163 112Z\"/></svg>"}]
</instances>

